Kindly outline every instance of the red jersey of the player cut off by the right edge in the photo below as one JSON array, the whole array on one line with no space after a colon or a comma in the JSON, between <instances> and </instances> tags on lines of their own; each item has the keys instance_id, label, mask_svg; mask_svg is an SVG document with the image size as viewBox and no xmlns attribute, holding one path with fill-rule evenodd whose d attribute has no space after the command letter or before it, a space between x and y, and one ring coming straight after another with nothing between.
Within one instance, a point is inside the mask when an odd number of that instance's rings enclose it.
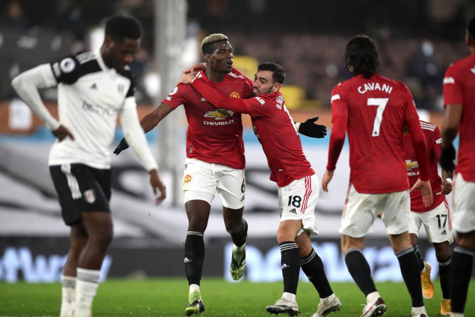
<instances>
[{"instance_id":1,"label":"red jersey of the player cut off by the right edge","mask_svg":"<svg viewBox=\"0 0 475 317\"><path fill-rule=\"evenodd\" d=\"M462 105L456 173L475 182L475 53L449 66L445 72L444 106Z\"/></svg>"}]
</instances>

